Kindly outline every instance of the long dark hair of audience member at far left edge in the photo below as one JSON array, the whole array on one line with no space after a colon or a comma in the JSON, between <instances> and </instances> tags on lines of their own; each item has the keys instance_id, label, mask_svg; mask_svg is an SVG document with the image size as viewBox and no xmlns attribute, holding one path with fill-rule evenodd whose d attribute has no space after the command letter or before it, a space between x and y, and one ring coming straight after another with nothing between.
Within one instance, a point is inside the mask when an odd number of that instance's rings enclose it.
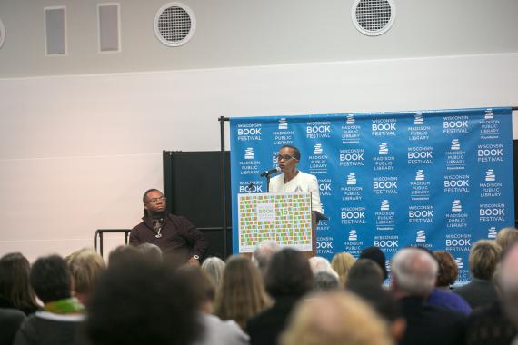
<instances>
[{"instance_id":1,"label":"long dark hair of audience member at far left edge","mask_svg":"<svg viewBox=\"0 0 518 345\"><path fill-rule=\"evenodd\" d=\"M0 258L0 295L12 308L24 311L26 315L39 308L29 282L30 270L29 261L19 252Z\"/></svg>"}]
</instances>

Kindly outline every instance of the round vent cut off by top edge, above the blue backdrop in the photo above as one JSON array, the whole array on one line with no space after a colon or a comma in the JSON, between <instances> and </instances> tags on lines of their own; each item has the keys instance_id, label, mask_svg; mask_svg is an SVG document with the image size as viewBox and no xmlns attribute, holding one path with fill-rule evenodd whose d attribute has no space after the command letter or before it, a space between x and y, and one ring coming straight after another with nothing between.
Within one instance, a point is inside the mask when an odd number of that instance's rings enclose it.
<instances>
[{"instance_id":1,"label":"round vent cut off by top edge, above the blue backdrop","mask_svg":"<svg viewBox=\"0 0 518 345\"><path fill-rule=\"evenodd\" d=\"M354 26L362 34L384 34L393 25L393 0L355 0L351 11Z\"/></svg>"}]
</instances>

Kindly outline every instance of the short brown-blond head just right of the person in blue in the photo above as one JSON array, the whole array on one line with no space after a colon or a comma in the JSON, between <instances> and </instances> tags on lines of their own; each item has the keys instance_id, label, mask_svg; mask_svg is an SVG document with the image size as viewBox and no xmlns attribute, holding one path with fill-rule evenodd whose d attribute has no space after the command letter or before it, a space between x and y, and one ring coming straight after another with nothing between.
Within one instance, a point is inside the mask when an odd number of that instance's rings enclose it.
<instances>
[{"instance_id":1,"label":"short brown-blond head just right of the person in blue","mask_svg":"<svg viewBox=\"0 0 518 345\"><path fill-rule=\"evenodd\" d=\"M491 281L502 250L494 241L481 240L473 244L470 251L470 273L473 278Z\"/></svg>"}]
</instances>

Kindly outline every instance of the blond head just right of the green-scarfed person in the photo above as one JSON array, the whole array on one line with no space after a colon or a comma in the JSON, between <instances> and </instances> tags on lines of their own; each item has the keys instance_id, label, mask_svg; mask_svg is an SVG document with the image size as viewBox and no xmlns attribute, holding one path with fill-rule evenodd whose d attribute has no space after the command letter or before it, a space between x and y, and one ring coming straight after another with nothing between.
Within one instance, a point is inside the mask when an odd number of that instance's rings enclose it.
<instances>
[{"instance_id":1,"label":"blond head just right of the green-scarfed person","mask_svg":"<svg viewBox=\"0 0 518 345\"><path fill-rule=\"evenodd\" d=\"M91 248L75 251L65 261L74 281L74 296L86 305L95 282L106 269L105 261Z\"/></svg>"}]
</instances>

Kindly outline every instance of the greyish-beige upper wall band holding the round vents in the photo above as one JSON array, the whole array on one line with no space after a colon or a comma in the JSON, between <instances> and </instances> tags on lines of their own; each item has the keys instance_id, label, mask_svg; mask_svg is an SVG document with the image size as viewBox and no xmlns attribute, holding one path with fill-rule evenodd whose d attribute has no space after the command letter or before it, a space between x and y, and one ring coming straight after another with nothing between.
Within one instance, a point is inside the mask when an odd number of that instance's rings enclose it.
<instances>
[{"instance_id":1,"label":"greyish-beige upper wall band holding the round vents","mask_svg":"<svg viewBox=\"0 0 518 345\"><path fill-rule=\"evenodd\" d=\"M177 48L153 30L170 0L118 0L122 52L98 54L97 4L107 2L0 1L0 77L518 53L516 0L393 0L394 25L378 37L354 28L354 0L181 0L196 31ZM45 57L44 7L55 5L66 6L68 55Z\"/></svg>"}]
</instances>

